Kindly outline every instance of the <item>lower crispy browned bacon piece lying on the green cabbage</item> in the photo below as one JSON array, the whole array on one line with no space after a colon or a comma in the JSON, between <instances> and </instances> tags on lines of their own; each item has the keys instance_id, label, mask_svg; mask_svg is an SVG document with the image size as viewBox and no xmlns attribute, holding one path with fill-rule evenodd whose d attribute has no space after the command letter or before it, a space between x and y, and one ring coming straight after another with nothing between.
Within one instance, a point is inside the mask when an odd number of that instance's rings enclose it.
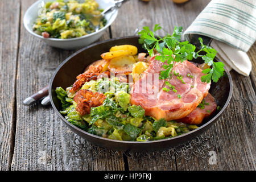
<instances>
[{"instance_id":1,"label":"lower crispy browned bacon piece lying on the green cabbage","mask_svg":"<svg viewBox=\"0 0 256 182\"><path fill-rule=\"evenodd\" d=\"M79 90L75 94L74 101L77 103L76 110L81 114L89 114L90 107L98 107L102 105L106 96L102 93L93 93L90 90Z\"/></svg>"}]
</instances>

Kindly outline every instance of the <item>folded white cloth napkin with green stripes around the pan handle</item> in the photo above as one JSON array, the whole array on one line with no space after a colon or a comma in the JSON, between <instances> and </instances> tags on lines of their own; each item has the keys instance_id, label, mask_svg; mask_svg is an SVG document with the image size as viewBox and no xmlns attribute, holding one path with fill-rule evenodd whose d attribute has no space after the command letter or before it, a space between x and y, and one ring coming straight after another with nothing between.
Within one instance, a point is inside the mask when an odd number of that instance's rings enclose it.
<instances>
[{"instance_id":1,"label":"folded white cloth napkin with green stripes around the pan handle","mask_svg":"<svg viewBox=\"0 0 256 182\"><path fill-rule=\"evenodd\" d=\"M249 76L251 61L246 52L256 40L256 0L212 0L184 32L212 38L211 47L226 69Z\"/></svg>"}]
</instances>

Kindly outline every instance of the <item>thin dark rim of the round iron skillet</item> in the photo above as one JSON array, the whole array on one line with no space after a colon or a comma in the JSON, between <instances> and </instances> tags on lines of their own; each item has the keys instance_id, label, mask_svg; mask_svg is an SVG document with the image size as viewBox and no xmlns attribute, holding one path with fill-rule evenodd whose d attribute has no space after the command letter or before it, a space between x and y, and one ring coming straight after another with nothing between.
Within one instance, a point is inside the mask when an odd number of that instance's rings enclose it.
<instances>
[{"instance_id":1,"label":"thin dark rim of the round iron skillet","mask_svg":"<svg viewBox=\"0 0 256 182\"><path fill-rule=\"evenodd\" d=\"M63 67L63 65L65 63L67 63L67 61L69 61L72 57L76 56L77 54L79 54L80 52L84 51L85 49L91 48L93 46L97 46L98 44L102 44L102 43L107 43L107 42L112 42L113 40L120 40L120 39L129 39L129 38L139 38L139 36L125 36L122 38L114 38L114 39L109 39L109 40L104 40L101 42L97 42L94 43L90 46L87 46L85 48L80 49L79 51L73 53L71 56L69 56L67 59L65 59L60 65L59 67L57 67L56 71L53 73L50 84L49 84L49 96L50 96L50 100L51 100L51 105L53 107L53 109L55 110L55 112L57 113L57 115L59 115L59 117L61 118L62 121L64 121L67 125L71 126L73 129L78 130L80 133L84 133L85 135L89 135L90 137L94 137L94 138L98 138L98 139L102 139L102 140L106 140L109 142L115 142L115 143L126 143L126 144L148 144L148 143L156 143L156 142L167 142L168 140L173 140L173 139L177 139L177 138L181 138L181 137L185 137L187 135L192 135L193 133L203 130L204 127L207 127L208 125L210 125L212 122L216 122L217 118L220 117L220 115L223 113L223 111L226 109L226 107L228 106L230 99L232 97L232 92L233 92L233 85L232 85L232 77L230 75L230 73L228 71L225 72L228 75L229 78L229 96L228 96L228 100L225 102L225 105L222 107L222 109L220 110L220 112L218 114L216 114L212 119L210 119L210 121L208 121L207 123L205 123L204 125L200 126L199 128L193 130L193 131L189 131L189 133L186 134L182 134L179 135L177 137L173 137L173 138L168 138L168 139L160 139L160 140L154 140L154 141L148 141L148 142L134 142L134 141L122 141L122 140L113 140L113 139L108 139L108 138L104 138L104 137L99 137L97 135L93 135L90 134L84 130L81 130L79 127L76 127L75 125L72 125L71 123L69 123L64 117L63 115L60 114L59 110L57 110L57 108L55 107L54 103L53 103L53 99L52 99L52 83L53 80L57 74L57 72L59 72L59 69L61 67ZM216 59L217 60L217 59Z\"/></svg>"}]
</instances>

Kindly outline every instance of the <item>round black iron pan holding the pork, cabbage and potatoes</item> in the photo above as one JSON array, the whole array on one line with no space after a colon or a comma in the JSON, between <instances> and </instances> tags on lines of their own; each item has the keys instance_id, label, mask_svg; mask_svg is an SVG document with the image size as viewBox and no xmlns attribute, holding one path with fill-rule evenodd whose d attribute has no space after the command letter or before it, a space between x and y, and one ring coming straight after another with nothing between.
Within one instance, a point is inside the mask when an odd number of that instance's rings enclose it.
<instances>
[{"instance_id":1,"label":"round black iron pan holding the pork, cabbage and potatoes","mask_svg":"<svg viewBox=\"0 0 256 182\"><path fill-rule=\"evenodd\" d=\"M66 60L63 61L56 69L55 73L51 78L49 84L49 96L51 98L51 104L53 109L56 111L57 115L61 120L77 135L80 135L82 138L88 140L89 142L96 144L98 146L110 148L112 150L121 150L121 151L160 151L166 150L170 147L174 147L178 144L188 142L193 138L197 137L204 131L208 130L212 126L223 111L228 106L230 98L232 96L232 78L229 72L225 72L224 77L220 78L217 83L212 83L209 92L216 99L217 105L222 109L216 111L212 117L203 121L200 127L196 130L193 130L187 134L180 135L178 137L155 140L149 142L127 142L120 140L112 140L103 137L98 137L96 135L87 133L84 130L79 129L78 127L72 125L65 120L63 115L59 113L61 109L60 100L57 99L55 89L58 86L62 88L67 88L76 81L76 76L84 72L84 69L94 61L100 60L101 53L108 52L110 47L118 46L122 44L131 44L138 47L138 52L145 52L142 49L141 45L138 43L138 36L130 36L126 38L110 39L104 42L95 43L89 47L85 47L80 51L77 51L72 56L69 56ZM193 60L196 63L202 63L202 60ZM214 127L218 127L215 125ZM217 133L216 133L217 135Z\"/></svg>"}]
</instances>

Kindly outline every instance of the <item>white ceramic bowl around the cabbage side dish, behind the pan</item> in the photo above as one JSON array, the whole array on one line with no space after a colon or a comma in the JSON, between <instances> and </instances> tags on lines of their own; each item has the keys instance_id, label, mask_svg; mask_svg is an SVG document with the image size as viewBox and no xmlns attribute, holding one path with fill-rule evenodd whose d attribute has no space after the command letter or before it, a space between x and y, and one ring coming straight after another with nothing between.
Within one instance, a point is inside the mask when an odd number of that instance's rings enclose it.
<instances>
[{"instance_id":1,"label":"white ceramic bowl around the cabbage side dish, behind the pan","mask_svg":"<svg viewBox=\"0 0 256 182\"><path fill-rule=\"evenodd\" d=\"M31 5L26 13L24 14L23 18L23 24L24 27L30 34L36 36L37 38L43 40L46 42L49 46L57 47L61 49L78 49L85 46L88 46L89 44L92 44L93 42L96 42L106 31L106 29L112 24L117 18L118 10L114 10L112 13L106 14L105 18L107 20L106 26L101 28L97 32L93 32L92 34L81 36L80 38L71 38L71 39L54 39L54 38L43 38L43 36L40 36L36 34L33 31L33 24L35 20L38 18L38 12L41 9L42 1L48 2L52 0L39 0L36 1L33 5ZM107 7L114 4L114 0L96 0L100 6L100 9L106 9Z\"/></svg>"}]
</instances>

